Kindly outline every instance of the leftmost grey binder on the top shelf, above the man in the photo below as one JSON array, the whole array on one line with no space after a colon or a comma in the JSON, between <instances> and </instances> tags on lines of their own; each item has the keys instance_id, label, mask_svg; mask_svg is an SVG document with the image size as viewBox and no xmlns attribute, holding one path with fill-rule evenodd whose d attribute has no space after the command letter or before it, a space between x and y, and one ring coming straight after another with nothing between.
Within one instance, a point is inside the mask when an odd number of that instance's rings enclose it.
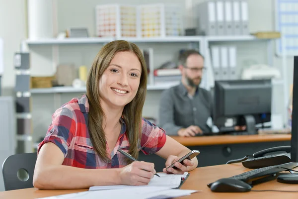
<instances>
[{"instance_id":1,"label":"leftmost grey binder on the top shelf, above the man","mask_svg":"<svg viewBox=\"0 0 298 199\"><path fill-rule=\"evenodd\" d=\"M217 35L216 30L216 1L209 0L196 6L195 13L198 13L197 34Z\"/></svg>"}]
</instances>

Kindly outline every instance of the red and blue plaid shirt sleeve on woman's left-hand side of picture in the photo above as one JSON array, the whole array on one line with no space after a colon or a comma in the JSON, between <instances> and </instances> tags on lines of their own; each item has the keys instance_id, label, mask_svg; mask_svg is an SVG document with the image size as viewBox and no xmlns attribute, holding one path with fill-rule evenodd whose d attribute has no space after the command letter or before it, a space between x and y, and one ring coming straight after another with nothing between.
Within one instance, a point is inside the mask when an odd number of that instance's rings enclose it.
<instances>
[{"instance_id":1,"label":"red and blue plaid shirt sleeve on woman's left-hand side of picture","mask_svg":"<svg viewBox=\"0 0 298 199\"><path fill-rule=\"evenodd\" d=\"M39 153L40 148L45 143L52 142L61 149L65 158L75 132L76 119L73 111L67 106L57 109L52 115L52 123L48 128L44 140L38 145L37 153Z\"/></svg>"}]
</instances>

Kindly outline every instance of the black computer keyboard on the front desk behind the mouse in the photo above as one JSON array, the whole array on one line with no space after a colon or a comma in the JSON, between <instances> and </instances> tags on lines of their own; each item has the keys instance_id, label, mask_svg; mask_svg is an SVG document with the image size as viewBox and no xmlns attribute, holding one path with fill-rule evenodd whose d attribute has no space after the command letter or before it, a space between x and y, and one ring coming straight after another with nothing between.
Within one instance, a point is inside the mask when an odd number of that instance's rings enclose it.
<instances>
[{"instance_id":1,"label":"black computer keyboard on the front desk behind the mouse","mask_svg":"<svg viewBox=\"0 0 298 199\"><path fill-rule=\"evenodd\" d=\"M236 176L232 176L229 178L237 179L244 181L246 183L252 182L254 180L260 179L262 177L267 177L270 175L277 174L282 171L287 171L288 169L293 169L294 167L297 167L298 164L296 162L290 162L286 164L281 165L275 165L275 166L269 166L269 167L263 167L259 169L254 169ZM208 184L207 186L210 188L212 183Z\"/></svg>"}]
</instances>

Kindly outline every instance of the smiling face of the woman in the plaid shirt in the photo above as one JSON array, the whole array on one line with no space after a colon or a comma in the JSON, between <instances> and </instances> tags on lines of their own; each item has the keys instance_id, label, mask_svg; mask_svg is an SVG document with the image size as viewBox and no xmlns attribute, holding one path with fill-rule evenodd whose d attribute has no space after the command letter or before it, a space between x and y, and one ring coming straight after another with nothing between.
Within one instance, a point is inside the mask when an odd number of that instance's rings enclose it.
<instances>
[{"instance_id":1,"label":"smiling face of the woman in the plaid shirt","mask_svg":"<svg viewBox=\"0 0 298 199\"><path fill-rule=\"evenodd\" d=\"M115 54L98 83L101 101L111 107L124 107L135 98L141 74L141 63L135 53Z\"/></svg>"}]
</instances>

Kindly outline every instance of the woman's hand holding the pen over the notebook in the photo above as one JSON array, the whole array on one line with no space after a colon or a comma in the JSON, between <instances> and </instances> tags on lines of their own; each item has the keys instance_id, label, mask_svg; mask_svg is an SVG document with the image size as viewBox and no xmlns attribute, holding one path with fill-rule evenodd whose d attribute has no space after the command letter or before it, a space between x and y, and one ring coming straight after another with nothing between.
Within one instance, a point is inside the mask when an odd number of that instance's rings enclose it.
<instances>
[{"instance_id":1,"label":"woman's hand holding the pen over the notebook","mask_svg":"<svg viewBox=\"0 0 298 199\"><path fill-rule=\"evenodd\" d=\"M153 163L135 161L121 169L120 182L122 185L148 185L155 173Z\"/></svg>"}]
</instances>

